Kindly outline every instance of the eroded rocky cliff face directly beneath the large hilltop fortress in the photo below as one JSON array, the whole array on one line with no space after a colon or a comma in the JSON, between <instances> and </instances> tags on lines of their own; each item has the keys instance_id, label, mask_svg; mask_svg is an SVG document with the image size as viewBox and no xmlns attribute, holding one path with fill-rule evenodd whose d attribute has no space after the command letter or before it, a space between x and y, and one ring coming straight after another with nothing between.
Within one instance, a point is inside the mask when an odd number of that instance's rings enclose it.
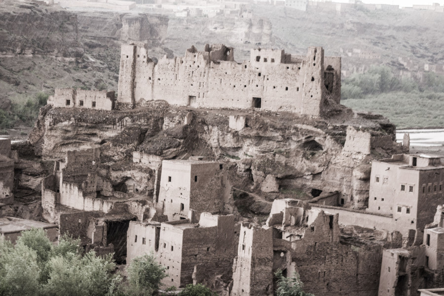
<instances>
[{"instance_id":1,"label":"eroded rocky cliff face directly beneath the large hilltop fortress","mask_svg":"<svg viewBox=\"0 0 444 296\"><path fill-rule=\"evenodd\" d=\"M230 128L229 117L234 115L245 118L240 130ZM349 110L340 111L337 118L196 110L161 101L124 111L46 106L29 140L43 159L98 147L102 162L108 165L130 165L136 150L164 159L192 155L216 159L230 171L231 185L244 194L240 198L246 194L253 199L248 206L254 214L268 214L269 202L275 198L309 200L333 191L340 192L345 206L363 208L368 200L370 160L396 153L398 148L372 150L369 155L344 151L346 128L366 126L374 133L391 136L394 129L384 118L367 119ZM112 179L117 180L119 174Z\"/></svg>"}]
</instances>

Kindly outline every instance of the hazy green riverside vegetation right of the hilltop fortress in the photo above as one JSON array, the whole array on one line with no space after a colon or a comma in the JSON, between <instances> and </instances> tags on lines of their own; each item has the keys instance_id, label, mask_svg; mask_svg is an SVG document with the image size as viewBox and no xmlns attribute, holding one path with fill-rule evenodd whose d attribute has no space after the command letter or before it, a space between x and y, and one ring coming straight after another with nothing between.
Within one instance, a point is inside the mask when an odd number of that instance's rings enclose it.
<instances>
[{"instance_id":1,"label":"hazy green riverside vegetation right of the hilltop fortress","mask_svg":"<svg viewBox=\"0 0 444 296\"><path fill-rule=\"evenodd\" d=\"M341 85L341 103L354 111L382 114L398 128L444 125L444 76L425 73L422 82L373 67L353 74Z\"/></svg>"}]
</instances>

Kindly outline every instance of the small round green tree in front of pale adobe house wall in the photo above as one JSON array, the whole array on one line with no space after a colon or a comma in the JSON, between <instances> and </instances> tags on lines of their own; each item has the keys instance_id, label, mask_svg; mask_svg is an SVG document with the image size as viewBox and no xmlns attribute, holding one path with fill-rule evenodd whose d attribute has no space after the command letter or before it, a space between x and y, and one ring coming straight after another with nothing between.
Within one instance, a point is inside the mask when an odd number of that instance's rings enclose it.
<instances>
[{"instance_id":1,"label":"small round green tree in front of pale adobe house wall","mask_svg":"<svg viewBox=\"0 0 444 296\"><path fill-rule=\"evenodd\" d=\"M160 282L167 275L164 266L157 263L153 254L134 258L128 269L130 295L148 296L159 289Z\"/></svg>"}]
</instances>

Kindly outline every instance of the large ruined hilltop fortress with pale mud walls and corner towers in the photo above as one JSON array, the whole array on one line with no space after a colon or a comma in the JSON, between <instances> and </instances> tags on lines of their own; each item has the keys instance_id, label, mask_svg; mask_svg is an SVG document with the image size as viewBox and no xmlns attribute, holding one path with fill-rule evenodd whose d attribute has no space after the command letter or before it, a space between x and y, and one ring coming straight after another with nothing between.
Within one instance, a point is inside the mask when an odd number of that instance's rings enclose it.
<instances>
[{"instance_id":1,"label":"large ruined hilltop fortress with pale mud walls and corner towers","mask_svg":"<svg viewBox=\"0 0 444 296\"><path fill-rule=\"evenodd\" d=\"M157 64L145 47L122 45L118 102L135 105L164 100L193 108L257 108L320 116L327 100L340 101L339 57L324 59L321 47L302 58L282 50L255 49L251 61L236 63L233 49L191 47L184 57Z\"/></svg>"}]
</instances>

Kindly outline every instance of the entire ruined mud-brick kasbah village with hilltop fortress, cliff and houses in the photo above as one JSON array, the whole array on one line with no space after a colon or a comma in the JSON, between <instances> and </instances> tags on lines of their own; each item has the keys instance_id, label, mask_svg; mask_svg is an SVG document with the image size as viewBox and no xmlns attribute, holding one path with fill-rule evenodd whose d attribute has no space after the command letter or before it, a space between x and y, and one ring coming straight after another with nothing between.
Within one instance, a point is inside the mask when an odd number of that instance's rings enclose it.
<instances>
[{"instance_id":1,"label":"entire ruined mud-brick kasbah village with hilltop fortress, cliff and houses","mask_svg":"<svg viewBox=\"0 0 444 296\"><path fill-rule=\"evenodd\" d=\"M154 63L128 44L117 93L57 89L27 142L0 141L1 236L154 254L162 289L271 296L278 270L316 296L442 288L441 157L341 106L341 60L321 47L233 57L216 44ZM5 218L14 180L41 191L47 223Z\"/></svg>"}]
</instances>

